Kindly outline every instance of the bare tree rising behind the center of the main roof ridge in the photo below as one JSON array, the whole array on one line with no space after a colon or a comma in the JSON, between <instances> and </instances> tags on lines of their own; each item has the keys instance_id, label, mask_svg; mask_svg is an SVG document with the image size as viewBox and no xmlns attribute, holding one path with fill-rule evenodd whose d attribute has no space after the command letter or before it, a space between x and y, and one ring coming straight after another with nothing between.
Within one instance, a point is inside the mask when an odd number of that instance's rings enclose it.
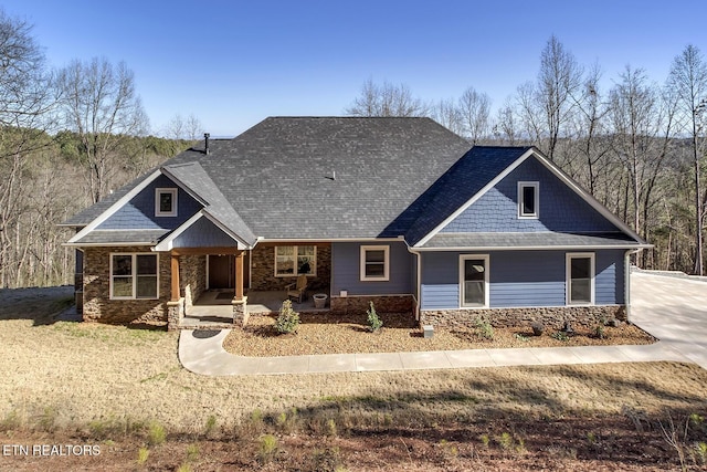
<instances>
[{"instance_id":1,"label":"bare tree rising behind the center of the main roof ridge","mask_svg":"<svg viewBox=\"0 0 707 472\"><path fill-rule=\"evenodd\" d=\"M377 85L369 78L363 83L361 95L345 113L351 116L428 116L430 107L414 98L405 84L383 82L383 85Z\"/></svg>"}]
</instances>

